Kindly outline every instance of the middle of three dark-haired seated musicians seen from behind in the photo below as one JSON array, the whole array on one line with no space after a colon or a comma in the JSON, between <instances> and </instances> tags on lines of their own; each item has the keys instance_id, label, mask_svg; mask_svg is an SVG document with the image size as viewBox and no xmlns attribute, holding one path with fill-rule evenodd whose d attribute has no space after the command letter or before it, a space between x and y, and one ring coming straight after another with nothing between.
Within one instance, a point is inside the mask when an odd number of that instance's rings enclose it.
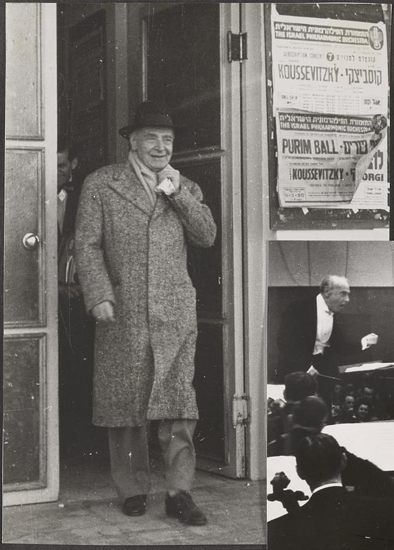
<instances>
[{"instance_id":1,"label":"middle of three dark-haired seated musicians seen from behind","mask_svg":"<svg viewBox=\"0 0 394 550\"><path fill-rule=\"evenodd\" d=\"M289 453L296 454L298 442L305 436L319 433L325 426L328 409L321 397L306 397L294 407L293 428L289 434ZM366 441L366 445L368 442ZM347 464L342 470L342 484L367 496L386 496L394 498L394 478L380 470L375 464L349 452Z\"/></svg>"}]
</instances>

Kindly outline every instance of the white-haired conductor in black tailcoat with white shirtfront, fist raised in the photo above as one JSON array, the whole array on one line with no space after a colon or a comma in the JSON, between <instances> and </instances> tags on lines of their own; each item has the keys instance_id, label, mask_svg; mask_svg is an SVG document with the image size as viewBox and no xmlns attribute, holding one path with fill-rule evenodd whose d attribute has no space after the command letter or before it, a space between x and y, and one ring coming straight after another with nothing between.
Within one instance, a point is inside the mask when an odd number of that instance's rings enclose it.
<instances>
[{"instance_id":1,"label":"white-haired conductor in black tailcoat with white shirtfront, fist raised","mask_svg":"<svg viewBox=\"0 0 394 550\"><path fill-rule=\"evenodd\" d=\"M328 275L322 279L317 296L297 300L287 307L277 337L278 382L283 382L289 373L307 371L318 377L319 392L329 400L329 377L334 382L332 377L338 374L338 364L344 364L343 358L349 358L347 362L353 362L352 358L369 360L369 349L377 343L377 335L370 333L350 342L338 322L349 300L347 278Z\"/></svg>"}]
</instances>

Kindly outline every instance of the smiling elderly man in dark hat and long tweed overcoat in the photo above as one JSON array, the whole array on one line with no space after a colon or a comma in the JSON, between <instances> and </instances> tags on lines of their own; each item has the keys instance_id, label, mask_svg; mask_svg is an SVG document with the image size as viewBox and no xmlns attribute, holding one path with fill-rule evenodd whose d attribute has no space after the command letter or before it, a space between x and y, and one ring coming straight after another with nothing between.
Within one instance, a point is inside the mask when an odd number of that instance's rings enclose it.
<instances>
[{"instance_id":1,"label":"smiling elderly man in dark hat and long tweed overcoat","mask_svg":"<svg viewBox=\"0 0 394 550\"><path fill-rule=\"evenodd\" d=\"M166 514L204 525L189 493L197 320L186 248L211 246L216 225L199 186L168 164L175 127L162 104L140 104L119 132L129 158L87 177L76 221L78 274L97 321L93 422L108 428L122 510L138 516L150 489L146 426L160 420Z\"/></svg>"}]
</instances>

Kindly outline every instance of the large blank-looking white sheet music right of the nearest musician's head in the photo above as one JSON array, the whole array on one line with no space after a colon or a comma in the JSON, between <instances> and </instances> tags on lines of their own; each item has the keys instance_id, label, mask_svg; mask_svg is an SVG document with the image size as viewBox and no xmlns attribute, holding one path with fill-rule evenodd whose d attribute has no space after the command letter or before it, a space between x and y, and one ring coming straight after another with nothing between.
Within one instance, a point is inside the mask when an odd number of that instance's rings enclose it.
<instances>
[{"instance_id":1,"label":"large blank-looking white sheet music right of the nearest musician's head","mask_svg":"<svg viewBox=\"0 0 394 550\"><path fill-rule=\"evenodd\" d=\"M394 471L394 420L334 424L323 433L332 435L349 452L367 459L386 472Z\"/></svg>"}]
</instances>

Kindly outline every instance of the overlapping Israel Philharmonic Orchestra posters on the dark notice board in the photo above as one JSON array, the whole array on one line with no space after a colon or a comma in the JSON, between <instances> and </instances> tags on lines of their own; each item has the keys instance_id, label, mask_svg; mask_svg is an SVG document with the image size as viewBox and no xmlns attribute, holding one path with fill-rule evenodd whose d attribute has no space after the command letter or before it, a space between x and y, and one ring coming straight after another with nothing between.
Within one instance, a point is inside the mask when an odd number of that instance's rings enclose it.
<instances>
[{"instance_id":1,"label":"overlapping Israel Philharmonic Orchestra posters on the dark notice board","mask_svg":"<svg viewBox=\"0 0 394 550\"><path fill-rule=\"evenodd\" d=\"M384 23L271 24L280 206L388 210Z\"/></svg>"}]
</instances>

